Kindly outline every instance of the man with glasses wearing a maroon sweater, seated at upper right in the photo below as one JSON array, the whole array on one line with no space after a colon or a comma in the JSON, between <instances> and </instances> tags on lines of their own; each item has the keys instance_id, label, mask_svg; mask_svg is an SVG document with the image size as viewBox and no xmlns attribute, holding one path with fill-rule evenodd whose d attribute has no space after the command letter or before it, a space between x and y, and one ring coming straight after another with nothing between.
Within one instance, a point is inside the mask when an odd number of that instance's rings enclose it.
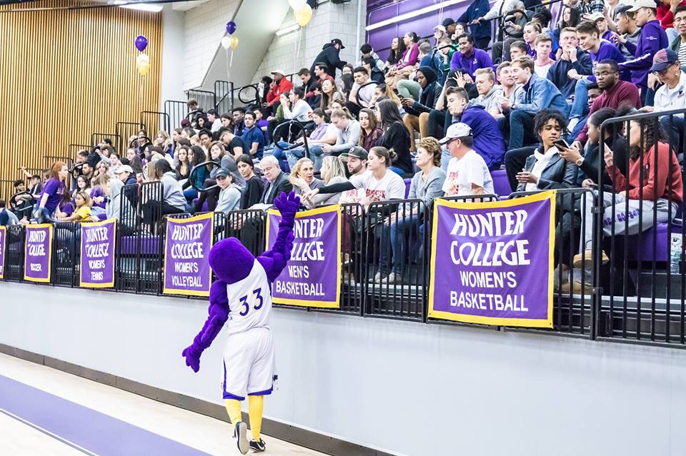
<instances>
[{"instance_id":1,"label":"man with glasses wearing a maroon sweater, seated at upper right","mask_svg":"<svg viewBox=\"0 0 686 456\"><path fill-rule=\"evenodd\" d=\"M591 105L589 116L600 108L617 109L624 104L629 104L629 106L637 109L641 107L641 98L637 86L627 81L620 81L620 67L616 61L610 59L600 61L595 67L595 78L602 93ZM587 130L587 126L582 128L576 141L572 143L572 148L582 150L588 141Z\"/></svg>"}]
</instances>

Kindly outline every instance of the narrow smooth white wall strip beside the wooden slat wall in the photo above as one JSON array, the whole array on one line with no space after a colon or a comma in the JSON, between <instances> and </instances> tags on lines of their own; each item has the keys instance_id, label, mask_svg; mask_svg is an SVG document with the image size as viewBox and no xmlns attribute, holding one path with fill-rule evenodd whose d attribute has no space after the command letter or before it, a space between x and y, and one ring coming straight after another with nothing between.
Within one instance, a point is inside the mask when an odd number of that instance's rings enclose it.
<instances>
[{"instance_id":1,"label":"narrow smooth white wall strip beside the wooden slat wall","mask_svg":"<svg viewBox=\"0 0 686 456\"><path fill-rule=\"evenodd\" d=\"M165 5L162 10L162 67L159 85L159 111L164 111L164 101L185 100L184 53L186 49L184 11Z\"/></svg>"}]
</instances>

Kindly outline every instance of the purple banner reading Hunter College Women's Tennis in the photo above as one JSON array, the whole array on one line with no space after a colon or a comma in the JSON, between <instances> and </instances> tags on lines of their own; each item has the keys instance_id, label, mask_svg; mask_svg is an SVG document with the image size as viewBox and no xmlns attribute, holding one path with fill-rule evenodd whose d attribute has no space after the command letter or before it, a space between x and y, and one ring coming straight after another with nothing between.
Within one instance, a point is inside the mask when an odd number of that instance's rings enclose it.
<instances>
[{"instance_id":1,"label":"purple banner reading Hunter College Women's Tennis","mask_svg":"<svg viewBox=\"0 0 686 456\"><path fill-rule=\"evenodd\" d=\"M114 287L116 219L81 224L81 286Z\"/></svg>"}]
</instances>

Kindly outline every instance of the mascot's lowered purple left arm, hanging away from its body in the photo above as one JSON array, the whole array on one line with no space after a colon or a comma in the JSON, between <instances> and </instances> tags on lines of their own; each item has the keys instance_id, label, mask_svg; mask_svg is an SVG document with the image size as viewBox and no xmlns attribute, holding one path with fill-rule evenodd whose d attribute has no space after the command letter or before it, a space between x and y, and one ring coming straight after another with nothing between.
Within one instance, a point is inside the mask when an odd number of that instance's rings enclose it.
<instances>
[{"instance_id":1,"label":"mascot's lowered purple left arm, hanging away from its body","mask_svg":"<svg viewBox=\"0 0 686 456\"><path fill-rule=\"evenodd\" d=\"M202 330L195 336L193 343L187 347L182 356L186 358L186 365L194 372L200 370L200 355L206 350L212 341L222 330L224 323L229 319L229 297L227 296L227 284L222 280L215 280L209 289L209 316Z\"/></svg>"}]
</instances>

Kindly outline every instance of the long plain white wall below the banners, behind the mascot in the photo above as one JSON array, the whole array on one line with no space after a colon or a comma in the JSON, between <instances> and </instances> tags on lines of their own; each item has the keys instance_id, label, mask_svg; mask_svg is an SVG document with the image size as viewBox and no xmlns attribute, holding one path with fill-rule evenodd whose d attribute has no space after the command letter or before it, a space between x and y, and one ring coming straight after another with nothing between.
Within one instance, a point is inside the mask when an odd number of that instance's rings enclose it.
<instances>
[{"instance_id":1,"label":"long plain white wall below the banners, behind the mascot","mask_svg":"<svg viewBox=\"0 0 686 456\"><path fill-rule=\"evenodd\" d=\"M0 283L0 343L221 403L207 304ZM686 448L686 352L274 310L265 415L413 456L651 455Z\"/></svg>"}]
</instances>

